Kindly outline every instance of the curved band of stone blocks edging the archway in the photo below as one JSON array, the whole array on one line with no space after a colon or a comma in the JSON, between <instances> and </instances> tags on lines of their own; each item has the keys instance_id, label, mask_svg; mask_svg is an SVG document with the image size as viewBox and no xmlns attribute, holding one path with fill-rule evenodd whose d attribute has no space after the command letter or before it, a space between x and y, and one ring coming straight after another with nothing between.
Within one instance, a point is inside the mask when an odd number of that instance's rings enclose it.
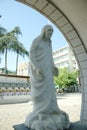
<instances>
[{"instance_id":1,"label":"curved band of stone blocks edging the archway","mask_svg":"<svg viewBox=\"0 0 87 130\"><path fill-rule=\"evenodd\" d=\"M79 33L64 13L50 0L17 0L32 7L46 16L62 32L76 57L80 70L80 84L82 88L81 117L82 124L87 124L87 49Z\"/></svg>"}]
</instances>

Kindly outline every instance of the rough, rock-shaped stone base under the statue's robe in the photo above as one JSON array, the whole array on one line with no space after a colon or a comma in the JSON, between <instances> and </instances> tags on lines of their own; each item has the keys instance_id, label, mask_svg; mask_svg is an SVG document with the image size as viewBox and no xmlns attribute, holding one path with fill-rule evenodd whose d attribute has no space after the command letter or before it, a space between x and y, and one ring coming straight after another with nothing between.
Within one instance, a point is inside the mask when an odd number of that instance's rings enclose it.
<instances>
[{"instance_id":1,"label":"rough, rock-shaped stone base under the statue's robe","mask_svg":"<svg viewBox=\"0 0 87 130\"><path fill-rule=\"evenodd\" d=\"M70 121L61 110L51 114L31 112L26 117L25 126L33 130L63 130L70 127Z\"/></svg>"}]
</instances>

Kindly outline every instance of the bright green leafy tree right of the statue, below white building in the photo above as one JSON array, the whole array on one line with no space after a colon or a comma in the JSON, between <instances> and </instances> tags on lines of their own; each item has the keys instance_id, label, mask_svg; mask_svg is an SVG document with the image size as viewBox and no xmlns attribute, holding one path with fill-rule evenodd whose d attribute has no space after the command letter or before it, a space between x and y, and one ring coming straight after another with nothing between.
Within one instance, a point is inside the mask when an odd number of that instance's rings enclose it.
<instances>
[{"instance_id":1,"label":"bright green leafy tree right of the statue, below white building","mask_svg":"<svg viewBox=\"0 0 87 130\"><path fill-rule=\"evenodd\" d=\"M59 76L54 81L62 88L77 84L78 70L70 71L67 68L59 69Z\"/></svg>"}]
</instances>

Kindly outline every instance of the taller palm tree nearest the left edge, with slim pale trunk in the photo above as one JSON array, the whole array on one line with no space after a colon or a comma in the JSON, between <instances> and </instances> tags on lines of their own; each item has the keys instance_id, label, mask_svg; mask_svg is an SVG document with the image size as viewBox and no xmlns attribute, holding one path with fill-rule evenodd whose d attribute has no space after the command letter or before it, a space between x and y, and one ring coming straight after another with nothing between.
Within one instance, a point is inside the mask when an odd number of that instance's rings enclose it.
<instances>
[{"instance_id":1,"label":"taller palm tree nearest the left edge, with slim pale trunk","mask_svg":"<svg viewBox=\"0 0 87 130\"><path fill-rule=\"evenodd\" d=\"M5 32L5 29L1 27L0 52L5 53L5 73L7 73L7 51L11 49L11 44L18 42L18 35L22 33L18 26L4 35L2 32Z\"/></svg>"}]
</instances>

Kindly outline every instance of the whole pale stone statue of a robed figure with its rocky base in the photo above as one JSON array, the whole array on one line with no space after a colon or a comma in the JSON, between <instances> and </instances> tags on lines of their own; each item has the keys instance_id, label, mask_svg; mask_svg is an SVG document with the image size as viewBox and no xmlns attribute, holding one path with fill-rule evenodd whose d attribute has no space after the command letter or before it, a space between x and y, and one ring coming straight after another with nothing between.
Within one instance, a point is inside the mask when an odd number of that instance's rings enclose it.
<instances>
[{"instance_id":1,"label":"whole pale stone statue of a robed figure with its rocky base","mask_svg":"<svg viewBox=\"0 0 87 130\"><path fill-rule=\"evenodd\" d=\"M53 76L58 75L58 69L52 57L52 33L51 25L44 26L30 48L33 111L26 117L25 126L34 130L63 130L70 126L68 115L57 105Z\"/></svg>"}]
</instances>

